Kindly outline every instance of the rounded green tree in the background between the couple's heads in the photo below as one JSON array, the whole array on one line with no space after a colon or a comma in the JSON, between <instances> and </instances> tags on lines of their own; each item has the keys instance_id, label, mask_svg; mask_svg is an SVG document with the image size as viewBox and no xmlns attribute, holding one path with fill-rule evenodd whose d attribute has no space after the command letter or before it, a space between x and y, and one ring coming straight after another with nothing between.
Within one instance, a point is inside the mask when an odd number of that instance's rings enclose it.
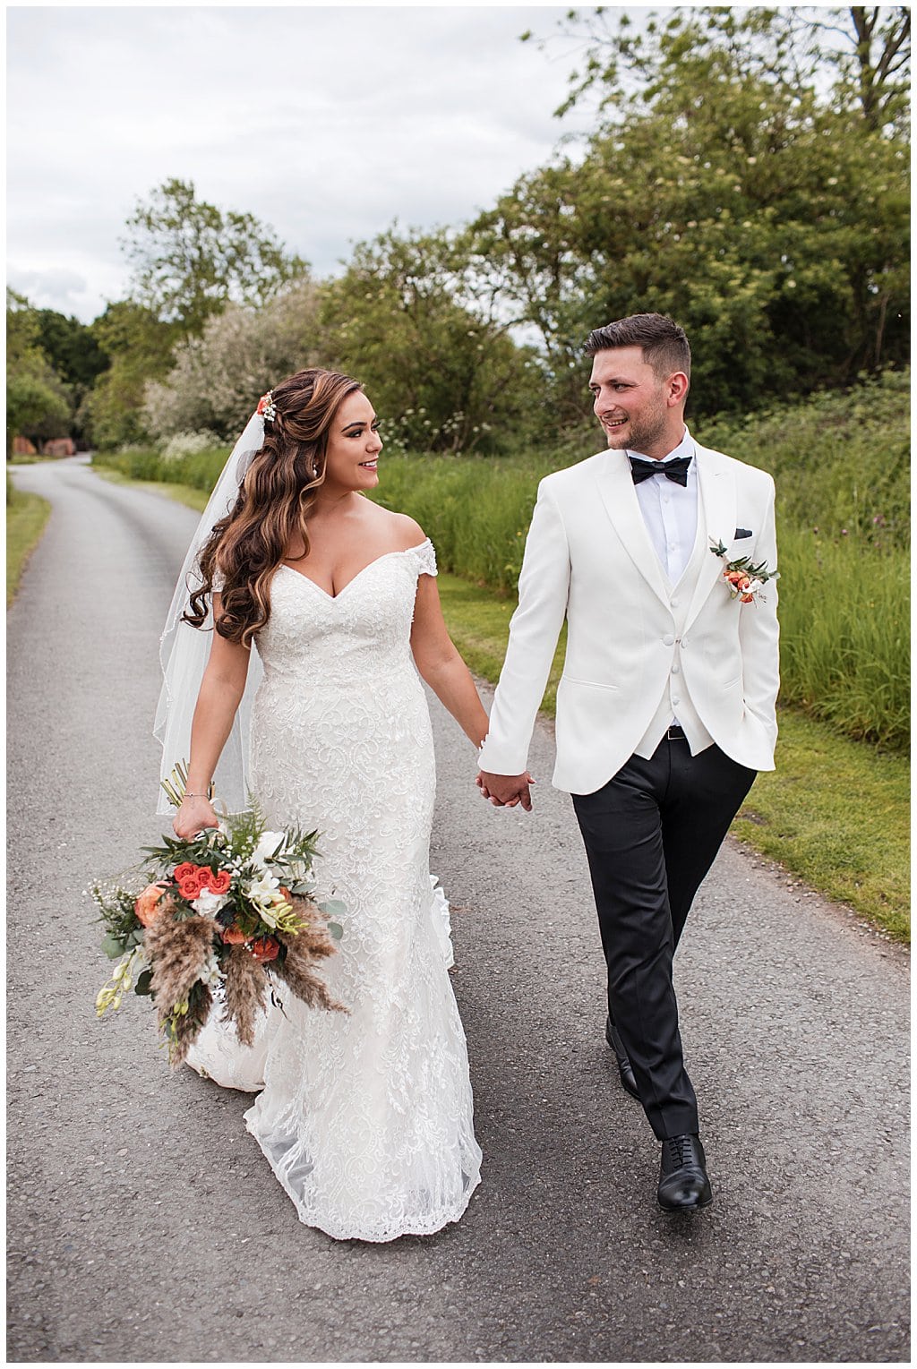
<instances>
[{"instance_id":1,"label":"rounded green tree in the background between the couple's heads","mask_svg":"<svg viewBox=\"0 0 917 1369\"><path fill-rule=\"evenodd\" d=\"M532 352L495 305L460 235L393 227L359 244L323 290L328 357L365 383L406 445L498 450L530 423L539 387Z\"/></svg>"}]
</instances>

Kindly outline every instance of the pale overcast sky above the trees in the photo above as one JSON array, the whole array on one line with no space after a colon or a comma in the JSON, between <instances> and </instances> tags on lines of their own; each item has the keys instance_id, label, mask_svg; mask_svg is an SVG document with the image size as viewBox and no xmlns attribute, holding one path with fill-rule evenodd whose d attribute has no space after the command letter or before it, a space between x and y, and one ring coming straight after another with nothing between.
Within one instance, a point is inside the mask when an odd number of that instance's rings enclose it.
<instances>
[{"instance_id":1,"label":"pale overcast sky above the trees","mask_svg":"<svg viewBox=\"0 0 917 1369\"><path fill-rule=\"evenodd\" d=\"M627 7L638 15L636 7ZM396 218L457 225L547 160L567 7L7 7L8 281L93 319L170 177L271 225L316 275Z\"/></svg>"}]
</instances>

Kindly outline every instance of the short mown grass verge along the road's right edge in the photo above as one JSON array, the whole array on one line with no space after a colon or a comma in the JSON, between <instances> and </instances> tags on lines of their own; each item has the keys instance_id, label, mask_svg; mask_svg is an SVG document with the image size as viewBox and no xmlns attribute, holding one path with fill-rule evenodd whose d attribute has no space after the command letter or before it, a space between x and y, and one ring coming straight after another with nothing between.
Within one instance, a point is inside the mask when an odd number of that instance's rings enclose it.
<instances>
[{"instance_id":1,"label":"short mown grass verge along the road's right edge","mask_svg":"<svg viewBox=\"0 0 917 1369\"><path fill-rule=\"evenodd\" d=\"M203 509L207 494L181 485L137 485ZM494 683L500 675L515 598L454 575L438 578L442 611L469 668ZM542 711L554 713L564 661L557 646ZM812 888L846 904L899 942L910 941L910 768L899 754L839 737L825 723L780 712L777 769L758 776L732 834L792 871Z\"/></svg>"}]
</instances>

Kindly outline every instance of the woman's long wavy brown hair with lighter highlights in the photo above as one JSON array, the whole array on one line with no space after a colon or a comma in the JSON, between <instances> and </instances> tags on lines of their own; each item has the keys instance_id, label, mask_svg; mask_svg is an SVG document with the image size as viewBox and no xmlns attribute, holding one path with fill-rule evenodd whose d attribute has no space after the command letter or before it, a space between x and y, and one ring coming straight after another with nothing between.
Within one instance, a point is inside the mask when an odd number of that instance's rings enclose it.
<instances>
[{"instance_id":1,"label":"woman's long wavy brown hair with lighter highlights","mask_svg":"<svg viewBox=\"0 0 917 1369\"><path fill-rule=\"evenodd\" d=\"M214 627L230 642L250 645L271 616L271 578L294 539L309 553L307 519L324 481L328 428L341 401L361 390L339 371L297 371L274 386L275 415L264 419L235 507L214 526L200 554L203 585L182 615L203 627L214 583L222 608Z\"/></svg>"}]
</instances>

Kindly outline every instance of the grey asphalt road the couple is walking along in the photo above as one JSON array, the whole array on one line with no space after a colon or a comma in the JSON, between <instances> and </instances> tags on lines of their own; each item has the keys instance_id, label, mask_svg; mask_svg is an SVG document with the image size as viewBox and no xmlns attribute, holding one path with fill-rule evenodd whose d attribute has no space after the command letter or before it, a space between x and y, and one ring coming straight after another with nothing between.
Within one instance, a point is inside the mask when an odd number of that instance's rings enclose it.
<instances>
[{"instance_id":1,"label":"grey asphalt road the couple is walking along","mask_svg":"<svg viewBox=\"0 0 917 1369\"><path fill-rule=\"evenodd\" d=\"M431 1238L300 1225L248 1098L170 1073L144 1003L93 1009L82 890L163 830L157 635L196 515L74 460L15 481L53 513L8 616L11 1359L907 1359L906 956L723 850L676 962L716 1201L664 1214L547 727L535 812L497 812L434 709L483 1183Z\"/></svg>"}]
</instances>

